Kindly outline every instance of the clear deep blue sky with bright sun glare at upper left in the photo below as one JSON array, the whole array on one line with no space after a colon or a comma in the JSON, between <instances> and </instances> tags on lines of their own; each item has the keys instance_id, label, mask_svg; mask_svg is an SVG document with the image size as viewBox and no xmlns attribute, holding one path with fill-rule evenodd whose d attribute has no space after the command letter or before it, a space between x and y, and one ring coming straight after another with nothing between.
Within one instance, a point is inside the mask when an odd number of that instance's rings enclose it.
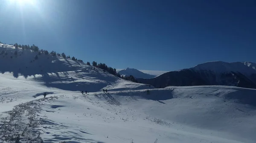
<instances>
[{"instance_id":1,"label":"clear deep blue sky with bright sun glare at upper left","mask_svg":"<svg viewBox=\"0 0 256 143\"><path fill-rule=\"evenodd\" d=\"M116 69L256 62L255 0L11 1L0 4L6 44L35 44Z\"/></svg>"}]
</instances>

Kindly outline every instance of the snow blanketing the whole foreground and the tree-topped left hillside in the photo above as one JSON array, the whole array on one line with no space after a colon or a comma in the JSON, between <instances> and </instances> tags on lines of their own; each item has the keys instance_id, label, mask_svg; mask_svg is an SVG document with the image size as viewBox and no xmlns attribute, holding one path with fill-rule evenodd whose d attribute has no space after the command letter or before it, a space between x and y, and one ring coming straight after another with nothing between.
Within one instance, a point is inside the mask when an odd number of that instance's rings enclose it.
<instances>
[{"instance_id":1,"label":"snow blanketing the whole foreground and the tree-topped left hillside","mask_svg":"<svg viewBox=\"0 0 256 143\"><path fill-rule=\"evenodd\" d=\"M30 62L35 54L0 55L0 126L22 143L255 143L256 90L155 89L58 56Z\"/></svg>"}]
</instances>

